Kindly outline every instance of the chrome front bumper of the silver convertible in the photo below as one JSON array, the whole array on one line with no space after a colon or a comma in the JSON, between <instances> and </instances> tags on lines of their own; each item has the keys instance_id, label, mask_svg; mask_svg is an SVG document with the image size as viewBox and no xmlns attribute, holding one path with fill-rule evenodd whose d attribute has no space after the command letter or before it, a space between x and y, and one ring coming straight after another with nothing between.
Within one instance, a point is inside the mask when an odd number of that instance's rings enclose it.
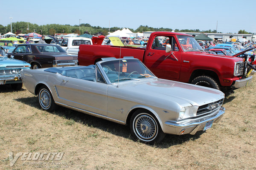
<instances>
[{"instance_id":1,"label":"chrome front bumper of the silver convertible","mask_svg":"<svg viewBox=\"0 0 256 170\"><path fill-rule=\"evenodd\" d=\"M197 131L203 130L204 126L206 125L207 122L210 122L213 120L213 123L217 123L221 120L223 117L223 114L225 113L225 108L221 107L218 113L215 116L212 117L207 117L204 119L199 119L194 122L183 122L183 123L177 123L177 122L171 122L167 121L164 124L169 127L169 130L172 132L171 134L176 134L176 135L182 135L182 134L192 134L194 135ZM175 131L174 131L174 129ZM183 131L183 133L180 133ZM168 133L168 132L166 132Z\"/></svg>"}]
</instances>

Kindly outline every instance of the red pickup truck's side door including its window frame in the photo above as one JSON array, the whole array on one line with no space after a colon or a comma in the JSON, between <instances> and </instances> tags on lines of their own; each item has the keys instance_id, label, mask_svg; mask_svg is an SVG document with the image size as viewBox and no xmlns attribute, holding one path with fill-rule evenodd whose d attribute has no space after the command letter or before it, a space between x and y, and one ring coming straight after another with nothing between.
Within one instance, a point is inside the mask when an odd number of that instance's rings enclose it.
<instances>
[{"instance_id":1,"label":"red pickup truck's side door including its window frame","mask_svg":"<svg viewBox=\"0 0 256 170\"><path fill-rule=\"evenodd\" d=\"M178 80L180 78L181 50L178 48L175 37L166 36L172 45L172 52L166 53L166 45L162 45L156 36L154 42L147 47L144 55L145 65L159 78Z\"/></svg>"}]
</instances>

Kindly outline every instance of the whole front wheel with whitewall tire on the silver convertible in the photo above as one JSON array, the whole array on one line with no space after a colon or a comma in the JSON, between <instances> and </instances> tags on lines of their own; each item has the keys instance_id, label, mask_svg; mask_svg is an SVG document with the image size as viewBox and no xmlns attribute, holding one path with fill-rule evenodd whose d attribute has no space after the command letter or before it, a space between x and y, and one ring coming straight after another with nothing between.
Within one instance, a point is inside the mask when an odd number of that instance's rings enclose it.
<instances>
[{"instance_id":1,"label":"whole front wheel with whitewall tire on the silver convertible","mask_svg":"<svg viewBox=\"0 0 256 170\"><path fill-rule=\"evenodd\" d=\"M144 109L135 111L131 116L130 128L135 139L148 144L158 143L165 136L157 119Z\"/></svg>"}]
</instances>

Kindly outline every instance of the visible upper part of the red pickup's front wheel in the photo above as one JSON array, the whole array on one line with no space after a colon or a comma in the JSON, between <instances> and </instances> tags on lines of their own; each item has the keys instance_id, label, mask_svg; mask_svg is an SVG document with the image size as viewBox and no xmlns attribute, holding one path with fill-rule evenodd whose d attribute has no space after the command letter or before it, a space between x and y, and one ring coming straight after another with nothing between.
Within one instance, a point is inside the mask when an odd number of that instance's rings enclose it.
<instances>
[{"instance_id":1,"label":"visible upper part of the red pickup's front wheel","mask_svg":"<svg viewBox=\"0 0 256 170\"><path fill-rule=\"evenodd\" d=\"M220 90L220 87L218 85L218 82L209 76L199 76L192 80L191 84L194 85L201 85L208 88L215 88L217 90Z\"/></svg>"}]
</instances>

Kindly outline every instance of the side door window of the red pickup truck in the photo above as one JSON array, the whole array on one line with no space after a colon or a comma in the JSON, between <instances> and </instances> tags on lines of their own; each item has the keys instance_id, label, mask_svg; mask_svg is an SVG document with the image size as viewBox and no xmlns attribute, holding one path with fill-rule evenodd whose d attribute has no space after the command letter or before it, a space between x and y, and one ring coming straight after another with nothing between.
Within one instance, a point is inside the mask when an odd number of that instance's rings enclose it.
<instances>
[{"instance_id":1,"label":"side door window of the red pickup truck","mask_svg":"<svg viewBox=\"0 0 256 170\"><path fill-rule=\"evenodd\" d=\"M157 36L154 38L154 42L152 44L152 49L154 50L166 50L166 45L172 45L172 51L179 51L177 43L174 37L163 37Z\"/></svg>"}]
</instances>

